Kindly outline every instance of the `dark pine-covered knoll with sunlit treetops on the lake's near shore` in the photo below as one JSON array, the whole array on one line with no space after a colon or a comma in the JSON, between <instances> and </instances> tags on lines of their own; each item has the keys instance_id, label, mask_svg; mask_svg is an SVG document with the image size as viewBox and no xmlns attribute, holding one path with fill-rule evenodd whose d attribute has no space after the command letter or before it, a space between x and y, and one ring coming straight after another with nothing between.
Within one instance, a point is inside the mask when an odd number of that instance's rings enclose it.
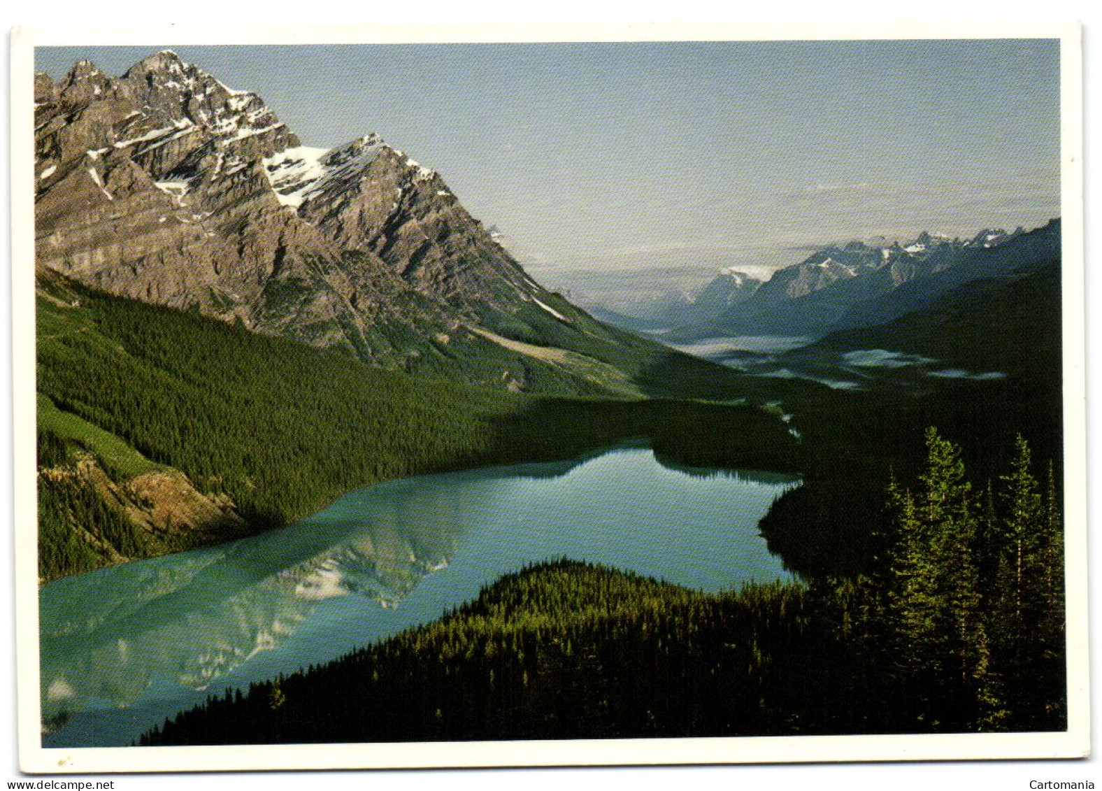
<instances>
[{"instance_id":1,"label":"dark pine-covered knoll with sunlit treetops on the lake's near shore","mask_svg":"<svg viewBox=\"0 0 1102 791\"><path fill-rule=\"evenodd\" d=\"M789 660L824 644L817 631L799 586L714 597L561 561L331 664L227 691L143 744L773 733L799 717L781 682L809 681Z\"/></svg>"}]
</instances>

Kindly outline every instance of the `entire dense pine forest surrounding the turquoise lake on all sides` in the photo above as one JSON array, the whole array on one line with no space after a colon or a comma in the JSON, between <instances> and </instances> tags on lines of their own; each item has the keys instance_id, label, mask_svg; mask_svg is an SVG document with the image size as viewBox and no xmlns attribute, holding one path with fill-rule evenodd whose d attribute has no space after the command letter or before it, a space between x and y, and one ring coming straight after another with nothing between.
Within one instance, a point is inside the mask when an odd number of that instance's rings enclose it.
<instances>
[{"instance_id":1,"label":"entire dense pine forest surrounding the turquoise lake on all sides","mask_svg":"<svg viewBox=\"0 0 1102 791\"><path fill-rule=\"evenodd\" d=\"M551 364L529 372L542 394L461 386L44 286L44 579L285 524L383 479L626 437L804 480L761 523L799 584L713 596L533 566L436 622L212 696L142 744L1065 727L1060 382L1030 376L1058 370L1058 338L1004 381L917 394L768 382L778 398L763 409L693 398L734 392L713 372L668 398L586 394ZM156 510L141 486L156 476L185 479L214 516L136 522Z\"/></svg>"}]
</instances>

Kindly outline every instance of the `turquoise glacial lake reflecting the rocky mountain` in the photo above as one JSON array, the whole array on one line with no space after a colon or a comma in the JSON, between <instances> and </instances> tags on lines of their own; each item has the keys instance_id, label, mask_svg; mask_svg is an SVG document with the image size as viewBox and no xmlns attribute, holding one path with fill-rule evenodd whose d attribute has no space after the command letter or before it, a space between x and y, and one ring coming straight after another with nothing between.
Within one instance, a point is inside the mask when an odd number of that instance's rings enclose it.
<instances>
[{"instance_id":1,"label":"turquoise glacial lake reflecting the rocky mountain","mask_svg":"<svg viewBox=\"0 0 1102 791\"><path fill-rule=\"evenodd\" d=\"M572 557L717 592L788 579L757 524L792 476L641 446L353 491L288 528L45 585L43 745L129 745L226 687L334 659Z\"/></svg>"}]
</instances>

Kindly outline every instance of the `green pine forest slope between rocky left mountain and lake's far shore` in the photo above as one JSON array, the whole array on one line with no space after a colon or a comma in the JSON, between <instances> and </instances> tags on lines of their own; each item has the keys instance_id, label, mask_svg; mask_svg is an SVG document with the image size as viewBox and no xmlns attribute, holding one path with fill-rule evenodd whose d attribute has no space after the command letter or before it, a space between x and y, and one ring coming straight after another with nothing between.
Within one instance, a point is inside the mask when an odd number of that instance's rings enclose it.
<instances>
[{"instance_id":1,"label":"green pine forest slope between rocky left mountain and lake's far shore","mask_svg":"<svg viewBox=\"0 0 1102 791\"><path fill-rule=\"evenodd\" d=\"M56 277L40 288L43 579L287 524L380 480L569 459L626 437L684 464L799 469L785 425L748 405L495 391ZM215 503L204 519L180 530L125 517L142 505L141 476L177 470Z\"/></svg>"}]
</instances>

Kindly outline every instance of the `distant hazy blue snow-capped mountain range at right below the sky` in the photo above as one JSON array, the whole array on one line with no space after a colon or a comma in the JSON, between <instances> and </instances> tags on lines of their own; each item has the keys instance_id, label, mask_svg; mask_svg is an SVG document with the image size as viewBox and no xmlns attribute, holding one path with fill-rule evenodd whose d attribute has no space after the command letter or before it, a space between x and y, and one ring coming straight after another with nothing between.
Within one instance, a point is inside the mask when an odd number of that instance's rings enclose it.
<instances>
[{"instance_id":1,"label":"distant hazy blue snow-capped mountain range at right below the sky","mask_svg":"<svg viewBox=\"0 0 1102 791\"><path fill-rule=\"evenodd\" d=\"M970 239L920 234L892 245L853 241L811 256L759 281L722 271L695 295L667 297L641 316L592 308L604 321L636 332L694 340L727 335L821 337L847 327L892 321L961 283L1012 275L1050 258L1059 221L1026 232L985 229Z\"/></svg>"}]
</instances>

